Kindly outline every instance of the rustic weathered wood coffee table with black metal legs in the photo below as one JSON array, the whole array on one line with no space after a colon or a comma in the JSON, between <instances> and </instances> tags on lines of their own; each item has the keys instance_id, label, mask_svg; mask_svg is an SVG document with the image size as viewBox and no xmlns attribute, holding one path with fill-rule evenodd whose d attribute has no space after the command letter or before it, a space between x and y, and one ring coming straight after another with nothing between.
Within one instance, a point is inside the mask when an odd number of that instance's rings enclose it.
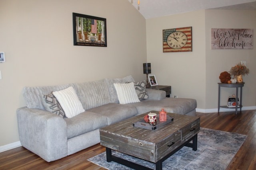
<instances>
[{"instance_id":1,"label":"rustic weathered wood coffee table with black metal legs","mask_svg":"<svg viewBox=\"0 0 256 170\"><path fill-rule=\"evenodd\" d=\"M158 113L158 111L151 112ZM133 123L140 121L148 113L100 129L100 144L106 147L108 162L118 162L134 169L150 169L113 156L111 151L116 150L153 162L156 164L156 170L162 170L162 162L182 147L197 150L200 117L167 113L174 121L159 129L148 130L133 126Z\"/></svg>"}]
</instances>

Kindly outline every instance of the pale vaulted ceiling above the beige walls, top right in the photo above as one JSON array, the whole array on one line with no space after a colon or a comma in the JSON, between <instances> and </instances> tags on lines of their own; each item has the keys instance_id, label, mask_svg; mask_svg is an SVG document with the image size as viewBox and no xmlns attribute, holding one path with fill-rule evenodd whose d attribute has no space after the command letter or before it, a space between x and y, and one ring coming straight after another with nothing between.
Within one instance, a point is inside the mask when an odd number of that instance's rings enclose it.
<instances>
[{"instance_id":1,"label":"pale vaulted ceiling above the beige walls, top right","mask_svg":"<svg viewBox=\"0 0 256 170\"><path fill-rule=\"evenodd\" d=\"M145 19L206 9L256 10L256 0L128 0Z\"/></svg>"}]
</instances>

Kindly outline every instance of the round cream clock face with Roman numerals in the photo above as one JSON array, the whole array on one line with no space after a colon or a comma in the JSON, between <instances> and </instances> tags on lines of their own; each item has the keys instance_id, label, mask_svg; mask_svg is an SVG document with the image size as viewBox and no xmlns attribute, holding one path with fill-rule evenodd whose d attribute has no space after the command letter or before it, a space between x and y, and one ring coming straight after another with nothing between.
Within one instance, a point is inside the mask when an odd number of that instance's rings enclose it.
<instances>
[{"instance_id":1,"label":"round cream clock face with Roman numerals","mask_svg":"<svg viewBox=\"0 0 256 170\"><path fill-rule=\"evenodd\" d=\"M186 45L187 41L185 33L176 31L168 35L166 43L173 49L180 49Z\"/></svg>"}]
</instances>

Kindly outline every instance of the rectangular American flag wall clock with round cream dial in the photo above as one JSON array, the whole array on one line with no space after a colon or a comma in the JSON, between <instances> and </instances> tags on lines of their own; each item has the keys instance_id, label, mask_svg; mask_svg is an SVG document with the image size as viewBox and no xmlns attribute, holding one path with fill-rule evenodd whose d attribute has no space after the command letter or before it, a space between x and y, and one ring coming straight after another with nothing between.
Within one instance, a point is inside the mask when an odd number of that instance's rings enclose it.
<instances>
[{"instance_id":1,"label":"rectangular American flag wall clock with round cream dial","mask_svg":"<svg viewBox=\"0 0 256 170\"><path fill-rule=\"evenodd\" d=\"M192 27L163 29L163 52L192 51Z\"/></svg>"}]
</instances>

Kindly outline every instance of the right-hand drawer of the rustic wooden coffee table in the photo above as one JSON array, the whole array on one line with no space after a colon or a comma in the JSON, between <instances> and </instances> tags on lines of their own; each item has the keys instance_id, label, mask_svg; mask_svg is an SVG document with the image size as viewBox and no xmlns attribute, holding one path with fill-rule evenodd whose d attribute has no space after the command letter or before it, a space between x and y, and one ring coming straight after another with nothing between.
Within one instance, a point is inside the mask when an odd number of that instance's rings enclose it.
<instances>
[{"instance_id":1,"label":"right-hand drawer of the rustic wooden coffee table","mask_svg":"<svg viewBox=\"0 0 256 170\"><path fill-rule=\"evenodd\" d=\"M186 142L188 139L193 137L195 134L197 134L200 131L200 119L197 119L196 121L190 123L188 126L182 128L182 143Z\"/></svg>"}]
</instances>

